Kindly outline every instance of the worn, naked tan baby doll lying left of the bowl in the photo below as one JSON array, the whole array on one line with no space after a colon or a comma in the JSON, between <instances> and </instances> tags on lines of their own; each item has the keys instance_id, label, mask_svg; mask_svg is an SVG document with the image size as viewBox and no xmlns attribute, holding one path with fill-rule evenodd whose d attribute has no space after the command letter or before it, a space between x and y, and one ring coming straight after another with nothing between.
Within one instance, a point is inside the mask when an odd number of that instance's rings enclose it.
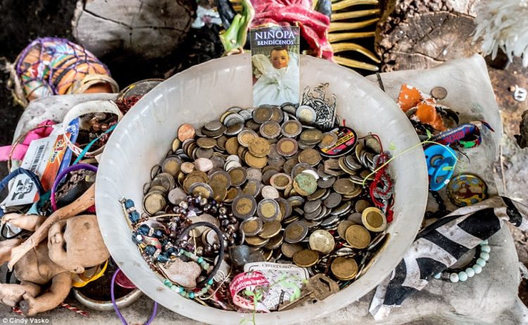
<instances>
[{"instance_id":1,"label":"worn, naked tan baby doll lying left of the bowl","mask_svg":"<svg viewBox=\"0 0 528 325\"><path fill-rule=\"evenodd\" d=\"M36 230L43 217L35 215L5 215L2 222L27 230ZM11 250L22 240L0 242L0 265L11 259ZM109 257L95 215L79 215L54 223L48 231L48 241L42 241L14 265L20 284L1 283L0 301L19 306L28 316L57 307L72 287L72 273L80 274L85 267L100 265ZM51 286L43 286L51 281Z\"/></svg>"}]
</instances>

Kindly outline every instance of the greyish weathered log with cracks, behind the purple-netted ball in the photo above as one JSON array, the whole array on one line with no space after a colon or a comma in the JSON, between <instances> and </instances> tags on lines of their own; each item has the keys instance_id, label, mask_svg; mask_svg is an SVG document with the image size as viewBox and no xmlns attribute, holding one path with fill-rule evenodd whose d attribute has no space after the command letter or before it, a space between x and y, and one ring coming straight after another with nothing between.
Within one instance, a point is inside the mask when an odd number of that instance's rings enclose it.
<instances>
[{"instance_id":1,"label":"greyish weathered log with cracks, behind the purple-netted ball","mask_svg":"<svg viewBox=\"0 0 528 325\"><path fill-rule=\"evenodd\" d=\"M184 40L195 11L194 1L185 0L79 0L73 36L99 57L125 51L163 58Z\"/></svg>"}]
</instances>

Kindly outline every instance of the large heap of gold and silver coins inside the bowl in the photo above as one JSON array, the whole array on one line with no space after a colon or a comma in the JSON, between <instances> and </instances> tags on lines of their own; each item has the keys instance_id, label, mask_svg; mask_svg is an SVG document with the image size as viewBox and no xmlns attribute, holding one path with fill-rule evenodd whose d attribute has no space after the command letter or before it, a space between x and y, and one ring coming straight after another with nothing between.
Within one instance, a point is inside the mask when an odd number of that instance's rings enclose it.
<instances>
[{"instance_id":1,"label":"large heap of gold and silver coins inside the bowl","mask_svg":"<svg viewBox=\"0 0 528 325\"><path fill-rule=\"evenodd\" d=\"M358 139L337 124L323 132L314 123L285 103L229 108L203 127L181 125L144 186L146 217L175 212L187 195L212 199L231 210L216 222L230 229L228 248L243 244L263 261L357 279L388 238L367 187L382 148L377 136ZM211 235L204 241L213 243Z\"/></svg>"}]
</instances>

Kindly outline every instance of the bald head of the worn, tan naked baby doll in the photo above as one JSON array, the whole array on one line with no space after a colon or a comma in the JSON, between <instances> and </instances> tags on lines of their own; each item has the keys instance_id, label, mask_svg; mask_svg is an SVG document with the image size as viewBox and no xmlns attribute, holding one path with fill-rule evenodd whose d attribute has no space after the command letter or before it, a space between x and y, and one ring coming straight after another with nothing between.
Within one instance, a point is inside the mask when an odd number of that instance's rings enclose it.
<instances>
[{"instance_id":1,"label":"bald head of the worn, tan naked baby doll","mask_svg":"<svg viewBox=\"0 0 528 325\"><path fill-rule=\"evenodd\" d=\"M95 215L80 215L53 224L48 231L48 250L54 263L73 273L99 265L110 255Z\"/></svg>"}]
</instances>

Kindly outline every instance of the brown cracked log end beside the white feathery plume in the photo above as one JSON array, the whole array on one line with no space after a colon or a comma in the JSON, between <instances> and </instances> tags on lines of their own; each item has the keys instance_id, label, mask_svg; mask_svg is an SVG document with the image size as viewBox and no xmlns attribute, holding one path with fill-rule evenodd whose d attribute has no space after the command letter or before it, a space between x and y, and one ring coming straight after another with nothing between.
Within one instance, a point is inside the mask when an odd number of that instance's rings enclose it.
<instances>
[{"instance_id":1,"label":"brown cracked log end beside the white feathery plume","mask_svg":"<svg viewBox=\"0 0 528 325\"><path fill-rule=\"evenodd\" d=\"M472 42L477 0L385 0L376 30L382 71L425 69L480 53Z\"/></svg>"}]
</instances>

